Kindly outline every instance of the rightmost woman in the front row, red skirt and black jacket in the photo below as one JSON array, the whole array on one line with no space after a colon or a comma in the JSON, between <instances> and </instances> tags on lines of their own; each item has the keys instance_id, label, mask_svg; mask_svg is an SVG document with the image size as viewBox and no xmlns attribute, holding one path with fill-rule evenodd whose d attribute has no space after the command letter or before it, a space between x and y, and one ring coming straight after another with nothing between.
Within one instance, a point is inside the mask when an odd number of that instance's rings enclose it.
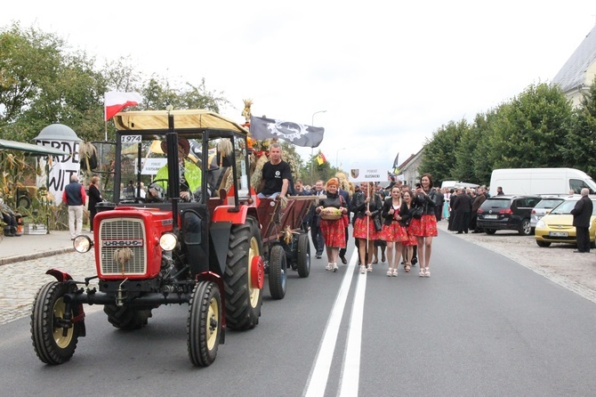
<instances>
[{"instance_id":1,"label":"rightmost woman in the front row, red skirt and black jacket","mask_svg":"<svg viewBox=\"0 0 596 397\"><path fill-rule=\"evenodd\" d=\"M431 277L429 262L431 261L432 238L439 235L437 218L435 217L435 191L432 190L431 174L423 174L420 183L416 185L414 206L423 207L423 216L413 218L410 231L418 239L418 262L420 263L420 277Z\"/></svg>"}]
</instances>

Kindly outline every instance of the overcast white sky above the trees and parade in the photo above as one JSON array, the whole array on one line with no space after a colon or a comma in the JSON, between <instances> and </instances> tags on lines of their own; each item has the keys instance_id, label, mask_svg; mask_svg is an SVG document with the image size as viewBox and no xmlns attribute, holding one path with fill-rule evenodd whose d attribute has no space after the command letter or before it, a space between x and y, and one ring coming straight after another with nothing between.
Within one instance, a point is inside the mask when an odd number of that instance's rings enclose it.
<instances>
[{"instance_id":1,"label":"overcast white sky above the trees and parade","mask_svg":"<svg viewBox=\"0 0 596 397\"><path fill-rule=\"evenodd\" d=\"M205 78L239 122L246 98L254 116L314 120L332 165L391 168L450 120L550 82L596 23L596 3L20 0L2 6L0 25L12 21L101 64L130 56L146 76Z\"/></svg>"}]
</instances>

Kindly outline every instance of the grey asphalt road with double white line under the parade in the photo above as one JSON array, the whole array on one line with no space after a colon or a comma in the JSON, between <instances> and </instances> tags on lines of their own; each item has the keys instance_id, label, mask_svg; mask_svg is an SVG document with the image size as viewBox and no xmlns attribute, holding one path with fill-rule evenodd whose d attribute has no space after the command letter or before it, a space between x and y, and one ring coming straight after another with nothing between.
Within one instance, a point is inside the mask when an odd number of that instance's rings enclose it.
<instances>
[{"instance_id":1,"label":"grey asphalt road with double white line under the parade","mask_svg":"<svg viewBox=\"0 0 596 397\"><path fill-rule=\"evenodd\" d=\"M206 369L188 358L185 305L162 306L148 327L133 332L112 328L93 307L87 336L73 359L57 367L37 360L27 318L6 323L0 326L3 394L588 396L596 390L596 305L584 297L443 231L433 245L430 279L418 278L417 266L388 278L385 264L361 276L355 260L337 273L324 270L324 259L313 260L309 278L291 273L280 301L265 288L259 326L228 331Z\"/></svg>"}]
</instances>

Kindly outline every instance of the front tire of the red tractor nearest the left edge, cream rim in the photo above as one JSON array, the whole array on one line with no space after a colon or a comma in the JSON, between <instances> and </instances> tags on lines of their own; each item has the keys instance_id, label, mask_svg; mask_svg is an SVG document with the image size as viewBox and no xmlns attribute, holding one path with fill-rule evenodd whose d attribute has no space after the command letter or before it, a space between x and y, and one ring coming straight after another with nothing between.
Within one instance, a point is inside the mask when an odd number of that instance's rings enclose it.
<instances>
[{"instance_id":1,"label":"front tire of the red tractor nearest the left edge, cream rim","mask_svg":"<svg viewBox=\"0 0 596 397\"><path fill-rule=\"evenodd\" d=\"M31 311L31 339L39 360L46 364L62 364L73 356L77 349L78 336L83 323L74 323L70 328L59 325L65 314L63 296L68 285L52 281L39 288ZM71 319L77 316L71 311Z\"/></svg>"}]
</instances>

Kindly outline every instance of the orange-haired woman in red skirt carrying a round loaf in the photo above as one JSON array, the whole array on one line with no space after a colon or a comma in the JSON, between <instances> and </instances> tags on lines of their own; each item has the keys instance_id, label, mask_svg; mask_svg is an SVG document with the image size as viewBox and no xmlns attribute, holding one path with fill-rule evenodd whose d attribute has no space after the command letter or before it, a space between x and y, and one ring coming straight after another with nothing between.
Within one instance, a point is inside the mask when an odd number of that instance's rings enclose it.
<instances>
[{"instance_id":1,"label":"orange-haired woman in red skirt carrying a round loaf","mask_svg":"<svg viewBox=\"0 0 596 397\"><path fill-rule=\"evenodd\" d=\"M326 199L318 200L318 206L315 208L317 214L320 214L324 208L333 207L339 208L342 211L342 215L348 214L348 205L343 202L342 197L339 195L339 180L337 178L331 178L327 181L326 185ZM340 248L346 246L345 238L345 224L343 219L340 218L334 221L327 221L320 217L320 228L323 239L325 240L325 248L327 253L327 271L337 271L337 257L340 254Z\"/></svg>"}]
</instances>

